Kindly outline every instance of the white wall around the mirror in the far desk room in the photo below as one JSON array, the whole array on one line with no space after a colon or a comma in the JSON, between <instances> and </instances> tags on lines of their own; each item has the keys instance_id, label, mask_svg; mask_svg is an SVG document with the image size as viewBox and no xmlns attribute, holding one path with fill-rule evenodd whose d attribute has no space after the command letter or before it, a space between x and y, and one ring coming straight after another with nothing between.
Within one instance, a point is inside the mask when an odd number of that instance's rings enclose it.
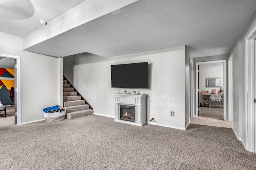
<instances>
[{"instance_id":1,"label":"white wall around the mirror in the far desk room","mask_svg":"<svg viewBox=\"0 0 256 170\"><path fill-rule=\"evenodd\" d=\"M202 90L212 91L212 89L216 89L216 92L220 90L220 88L206 88L205 87L205 78L211 77L219 77L220 78L220 86L224 87L224 63L212 63L212 64L200 64L199 65L199 92ZM202 95L199 95L199 102L202 103Z\"/></svg>"}]
</instances>

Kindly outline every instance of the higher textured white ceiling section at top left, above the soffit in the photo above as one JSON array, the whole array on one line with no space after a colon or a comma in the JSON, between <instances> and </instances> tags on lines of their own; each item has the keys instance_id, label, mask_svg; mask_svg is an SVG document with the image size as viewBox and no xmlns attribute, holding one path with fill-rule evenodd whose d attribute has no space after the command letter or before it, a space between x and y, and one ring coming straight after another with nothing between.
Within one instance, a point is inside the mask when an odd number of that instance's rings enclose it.
<instances>
[{"instance_id":1,"label":"higher textured white ceiling section at top left, above the soffit","mask_svg":"<svg viewBox=\"0 0 256 170\"><path fill-rule=\"evenodd\" d=\"M0 31L24 37L84 0L0 0Z\"/></svg>"}]
</instances>

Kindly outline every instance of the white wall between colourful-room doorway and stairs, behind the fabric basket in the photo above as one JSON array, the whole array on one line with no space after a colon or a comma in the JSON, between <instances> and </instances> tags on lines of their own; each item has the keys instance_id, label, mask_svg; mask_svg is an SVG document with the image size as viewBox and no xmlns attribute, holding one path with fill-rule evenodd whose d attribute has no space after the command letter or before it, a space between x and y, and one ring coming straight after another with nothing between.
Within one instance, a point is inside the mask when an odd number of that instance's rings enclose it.
<instances>
[{"instance_id":1,"label":"white wall between colourful-room doorway and stairs, behind the fabric basket","mask_svg":"<svg viewBox=\"0 0 256 170\"><path fill-rule=\"evenodd\" d=\"M22 51L22 38L0 32L0 53L20 56L21 123L44 119L42 109L58 104L57 58Z\"/></svg>"}]
</instances>

